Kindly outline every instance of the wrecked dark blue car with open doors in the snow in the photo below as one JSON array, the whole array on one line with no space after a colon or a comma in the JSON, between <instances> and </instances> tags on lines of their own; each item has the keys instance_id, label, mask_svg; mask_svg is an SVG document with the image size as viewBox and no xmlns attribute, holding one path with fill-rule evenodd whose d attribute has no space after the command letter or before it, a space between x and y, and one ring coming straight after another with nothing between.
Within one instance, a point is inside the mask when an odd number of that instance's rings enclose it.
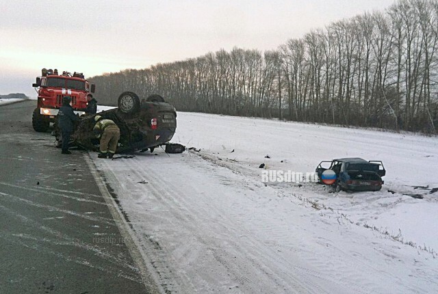
<instances>
[{"instance_id":1,"label":"wrecked dark blue car with open doors in the snow","mask_svg":"<svg viewBox=\"0 0 438 294\"><path fill-rule=\"evenodd\" d=\"M323 165L329 167L324 168ZM366 161L357 157L321 161L315 170L320 183L325 170L335 172L336 181L333 187L336 191L378 191L382 188L382 177L386 174L382 161Z\"/></svg>"}]
</instances>

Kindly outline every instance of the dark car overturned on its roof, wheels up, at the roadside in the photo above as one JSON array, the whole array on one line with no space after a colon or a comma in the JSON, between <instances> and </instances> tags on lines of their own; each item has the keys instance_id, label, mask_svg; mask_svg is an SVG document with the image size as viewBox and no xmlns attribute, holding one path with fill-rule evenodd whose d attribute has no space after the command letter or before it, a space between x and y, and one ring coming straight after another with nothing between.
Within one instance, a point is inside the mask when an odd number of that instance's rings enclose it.
<instances>
[{"instance_id":1,"label":"dark car overturned on its roof, wheels up, at the roadside","mask_svg":"<svg viewBox=\"0 0 438 294\"><path fill-rule=\"evenodd\" d=\"M177 129L175 107L164 98L153 94L142 99L133 92L123 92L118 97L118 107L98 113L102 118L113 120L120 129L117 153L136 150L154 150L172 139ZM70 146L97 150L99 139L93 133L94 116L81 116L70 138ZM62 143L59 129L55 129L57 146Z\"/></svg>"}]
</instances>

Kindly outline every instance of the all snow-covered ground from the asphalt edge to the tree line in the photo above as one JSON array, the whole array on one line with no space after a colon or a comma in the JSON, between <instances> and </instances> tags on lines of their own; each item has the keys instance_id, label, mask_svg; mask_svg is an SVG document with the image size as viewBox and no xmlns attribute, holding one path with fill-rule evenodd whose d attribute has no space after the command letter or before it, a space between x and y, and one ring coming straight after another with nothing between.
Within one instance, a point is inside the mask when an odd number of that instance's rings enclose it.
<instances>
[{"instance_id":1,"label":"all snow-covered ground from the asphalt edge to the tree line","mask_svg":"<svg viewBox=\"0 0 438 294\"><path fill-rule=\"evenodd\" d=\"M436 137L204 113L177 120L172 142L200 152L94 160L164 291L438 292ZM305 173L339 157L382 160L383 189L261 182L261 163Z\"/></svg>"}]
</instances>

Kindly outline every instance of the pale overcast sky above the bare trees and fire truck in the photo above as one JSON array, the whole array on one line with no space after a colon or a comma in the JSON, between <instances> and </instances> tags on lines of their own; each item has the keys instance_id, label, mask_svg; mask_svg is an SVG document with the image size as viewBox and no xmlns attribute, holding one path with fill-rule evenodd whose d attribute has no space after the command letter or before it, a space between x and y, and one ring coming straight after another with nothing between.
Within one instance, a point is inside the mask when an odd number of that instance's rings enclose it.
<instances>
[{"instance_id":1,"label":"pale overcast sky above the bare trees and fire truck","mask_svg":"<svg viewBox=\"0 0 438 294\"><path fill-rule=\"evenodd\" d=\"M36 96L41 68L86 77L233 46L276 49L395 0L0 0L0 94Z\"/></svg>"}]
</instances>

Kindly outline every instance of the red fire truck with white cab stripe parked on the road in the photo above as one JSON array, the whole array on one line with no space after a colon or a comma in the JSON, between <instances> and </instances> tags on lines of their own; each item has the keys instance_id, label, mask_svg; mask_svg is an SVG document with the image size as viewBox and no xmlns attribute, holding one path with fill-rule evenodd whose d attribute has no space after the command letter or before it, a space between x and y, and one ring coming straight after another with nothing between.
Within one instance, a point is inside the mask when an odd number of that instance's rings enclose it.
<instances>
[{"instance_id":1,"label":"red fire truck with white cab stripe parked on the road","mask_svg":"<svg viewBox=\"0 0 438 294\"><path fill-rule=\"evenodd\" d=\"M41 77L36 78L34 88L38 88L38 104L32 116L32 126L37 132L45 132L62 106L62 98L70 96L75 113L81 116L85 113L88 101L94 93L94 83L88 82L81 72L62 72L57 70L41 70Z\"/></svg>"}]
</instances>

